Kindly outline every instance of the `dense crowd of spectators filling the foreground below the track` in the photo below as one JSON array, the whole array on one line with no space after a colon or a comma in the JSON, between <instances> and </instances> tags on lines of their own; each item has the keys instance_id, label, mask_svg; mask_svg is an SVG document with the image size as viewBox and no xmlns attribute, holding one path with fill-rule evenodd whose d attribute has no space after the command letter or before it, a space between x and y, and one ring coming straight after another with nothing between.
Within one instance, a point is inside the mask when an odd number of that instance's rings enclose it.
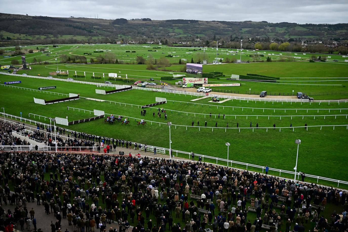
<instances>
[{"instance_id":1,"label":"dense crowd of spectators filling the foreground below the track","mask_svg":"<svg viewBox=\"0 0 348 232\"><path fill-rule=\"evenodd\" d=\"M13 126L0 126L2 139L13 140L8 138ZM85 141L76 135L63 142ZM35 210L55 215L53 232L61 231L65 218L79 232L107 231L111 222L117 222L121 232L208 228L213 232L343 232L348 228L345 191L199 161L2 151L0 165L4 227L10 221L33 223L25 206L36 201ZM16 205L13 213L5 211L8 203ZM325 213L314 207L327 205Z\"/></svg>"}]
</instances>

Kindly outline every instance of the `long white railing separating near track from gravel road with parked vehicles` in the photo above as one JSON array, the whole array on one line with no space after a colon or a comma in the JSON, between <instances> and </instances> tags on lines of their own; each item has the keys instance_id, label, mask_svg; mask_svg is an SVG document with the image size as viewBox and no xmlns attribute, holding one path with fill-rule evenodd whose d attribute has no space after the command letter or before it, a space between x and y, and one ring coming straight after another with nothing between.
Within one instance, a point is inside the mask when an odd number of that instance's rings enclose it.
<instances>
[{"instance_id":1,"label":"long white railing separating near track from gravel road with parked vehicles","mask_svg":"<svg viewBox=\"0 0 348 232\"><path fill-rule=\"evenodd\" d=\"M82 71L81 71L82 72ZM0 72L0 74L3 75L13 75L18 77L30 77L30 78L38 78L38 79L46 79L46 80L57 80L57 81L68 81L68 82L74 82L74 83L82 83L82 84L89 84L89 85L99 85L99 86L108 86L108 87L119 87L121 88L123 85L113 85L113 84L105 84L105 83L96 83L96 82L89 82L89 81L76 81L76 80L67 80L67 79L60 79L60 78L47 78L47 77L38 77L38 76L32 76L32 75L21 75L21 74L13 74L13 73L7 73L7 72ZM148 91L156 91L161 93L173 93L173 94L183 94L183 95L192 95L192 96L201 96L204 97L205 94L203 93L194 93L194 92L186 92L186 91L177 91L177 90L170 90L170 89L157 89L157 88L142 88L138 86L133 86L133 89L139 89L139 90L148 90ZM309 102L308 99L293 99L293 98L254 98L254 97L238 97L238 96L229 96L229 95L218 95L218 94L208 94L209 97L217 96L220 98L230 98L230 99L238 99L238 100L250 100L250 101L259 101L259 102ZM347 102L347 100L320 100L320 101L312 101L312 102Z\"/></svg>"}]
</instances>

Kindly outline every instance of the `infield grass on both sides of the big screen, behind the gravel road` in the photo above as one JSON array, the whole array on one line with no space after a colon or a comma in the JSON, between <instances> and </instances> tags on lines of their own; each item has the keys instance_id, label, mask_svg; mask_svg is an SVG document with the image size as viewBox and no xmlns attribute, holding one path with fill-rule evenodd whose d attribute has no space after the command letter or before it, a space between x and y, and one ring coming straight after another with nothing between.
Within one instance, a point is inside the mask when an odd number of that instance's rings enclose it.
<instances>
[{"instance_id":1,"label":"infield grass on both sides of the big screen, behind the gravel road","mask_svg":"<svg viewBox=\"0 0 348 232\"><path fill-rule=\"evenodd\" d=\"M335 69L331 69L334 65ZM27 73L29 75L48 76L50 72L57 70L56 64L49 65L31 65L32 70L21 70L17 73ZM129 64L58 64L58 70L69 71L72 76L75 71L78 75L84 75L86 72L86 80L90 79L93 72L96 76L102 76L105 73L107 80L108 73L117 72L122 78L139 80L154 78L160 81L163 76L173 74L183 74L184 65L172 65L162 67L159 70L147 70L147 65L129 65ZM160 71L160 69L172 70ZM329 64L329 63L308 63L308 62L265 62L265 63L250 63L250 64L223 64L223 65L205 65L204 72L221 71L225 77L209 78L208 83L241 83L241 86L234 87L214 87L220 90L232 90L241 94L249 94L251 92L258 94L261 91L267 90L270 93L286 93L292 95L296 92L313 94L315 99L343 99L348 98L348 90L346 83L348 80L348 66L346 64ZM269 75L271 77L279 77L277 83L254 82L254 81L236 81L227 80L231 74L246 75L247 73ZM316 77L316 78L313 78ZM347 78L345 78L347 77ZM102 81L102 80L100 80ZM172 85L177 80L166 81ZM337 94L337 93L343 94ZM323 95L318 95L323 93ZM330 95L327 95L328 93Z\"/></svg>"}]
</instances>

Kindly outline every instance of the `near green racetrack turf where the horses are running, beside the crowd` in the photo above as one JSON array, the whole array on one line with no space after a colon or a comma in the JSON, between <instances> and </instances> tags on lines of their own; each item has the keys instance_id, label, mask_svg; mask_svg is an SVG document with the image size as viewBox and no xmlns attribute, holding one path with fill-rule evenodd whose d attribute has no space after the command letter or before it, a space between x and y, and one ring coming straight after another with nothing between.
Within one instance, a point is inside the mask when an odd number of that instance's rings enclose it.
<instances>
[{"instance_id":1,"label":"near green racetrack turf where the horses are running, beside the crowd","mask_svg":"<svg viewBox=\"0 0 348 232\"><path fill-rule=\"evenodd\" d=\"M322 103L319 105L318 103L301 104L230 100L217 104L208 103L209 99L192 102L190 100L193 96L189 95L174 95L143 90L98 95L95 94L96 87L94 85L27 77L0 76L1 82L15 79L22 81L22 83L16 84L18 87L37 89L43 86L55 85L57 88L52 89L52 92L77 93L81 97L105 99L117 103L96 102L81 98L71 102L39 105L33 102L33 97L49 100L62 98L62 96L58 97L54 94L44 94L2 85L0 86L0 106L5 107L6 113L9 114L19 116L19 112L22 112L23 117L26 118L28 118L29 113L46 117L68 116L69 121L72 121L89 118L93 114L90 115L89 112L84 113L83 111L78 112L78 110L73 111L72 109L68 110L68 106L92 111L93 109L103 110L105 113L124 115L136 119L130 119L130 126L121 126L120 123L115 123L114 125L104 124L103 120L100 119L71 125L67 128L153 146L168 147L168 127L164 125L159 126L156 123L166 123L163 114L161 118L153 117L152 112L157 113L158 108L147 108L147 115L142 117L139 112L140 108L137 106L154 103L155 97L165 97L168 102L160 105L160 107L166 109L168 114L167 121L173 123L173 149L227 158L227 149L224 143L230 142L232 146L229 158L231 160L292 170L297 148L294 144L294 139L300 138L302 143L300 145L298 170L312 175L321 175L345 181L348 179L346 173L340 171L345 168L344 163L341 162L342 159L345 159L345 154L342 151L348 148L348 131L346 126L336 126L334 130L332 126L323 127L322 129L320 127L309 127L308 131L304 128L294 128L294 131L290 128L284 128L280 131L279 129L268 129L266 131L266 129L261 128L272 127L273 123L276 124L276 127L289 127L290 123L292 123L293 127L304 126L304 123L307 123L308 126L346 125L348 123L345 114L348 114L348 103L330 103L330 105ZM21 96L20 99L18 99L18 96ZM134 105L125 106L119 103ZM209 117L210 113L212 113L212 118ZM218 116L219 113L220 118ZM223 114L226 114L225 119L223 119ZM325 119L324 116L319 116L337 114L341 115L325 116ZM270 116L269 119L268 115ZM289 115L293 115L293 117L286 117ZM282 117L280 118L280 116ZM314 116L316 117L314 118ZM32 116L30 118L33 119ZM148 121L147 125L136 126L135 121L139 121L141 118ZM43 118L38 119L38 117L35 117L35 120L45 122ZM150 121L153 122L150 123ZM194 126L197 126L197 121L199 121L199 126L201 127L191 127L192 121ZM204 128L205 121L207 121L208 127L215 127L217 122L217 128ZM239 128L242 128L240 132L239 129L231 129L231 127L236 127L237 122L239 123ZM256 123L258 123L260 128L250 129L250 122L252 122L252 127L256 127ZM225 132L227 123L229 124L229 129L226 129ZM175 128L174 125L183 126L176 126ZM329 159L332 154L335 155L336 159ZM206 161L215 162L208 159ZM330 170L330 172L323 170ZM274 173L274 175L277 174Z\"/></svg>"}]
</instances>

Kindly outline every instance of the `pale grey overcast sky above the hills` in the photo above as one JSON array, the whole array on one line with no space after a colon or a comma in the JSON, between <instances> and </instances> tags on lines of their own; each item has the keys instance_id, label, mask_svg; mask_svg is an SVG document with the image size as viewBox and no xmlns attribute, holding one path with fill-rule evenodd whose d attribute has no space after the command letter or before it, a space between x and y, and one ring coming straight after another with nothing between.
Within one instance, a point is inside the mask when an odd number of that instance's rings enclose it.
<instances>
[{"instance_id":1,"label":"pale grey overcast sky above the hills","mask_svg":"<svg viewBox=\"0 0 348 232\"><path fill-rule=\"evenodd\" d=\"M51 17L348 23L348 0L16 0L1 13Z\"/></svg>"}]
</instances>

